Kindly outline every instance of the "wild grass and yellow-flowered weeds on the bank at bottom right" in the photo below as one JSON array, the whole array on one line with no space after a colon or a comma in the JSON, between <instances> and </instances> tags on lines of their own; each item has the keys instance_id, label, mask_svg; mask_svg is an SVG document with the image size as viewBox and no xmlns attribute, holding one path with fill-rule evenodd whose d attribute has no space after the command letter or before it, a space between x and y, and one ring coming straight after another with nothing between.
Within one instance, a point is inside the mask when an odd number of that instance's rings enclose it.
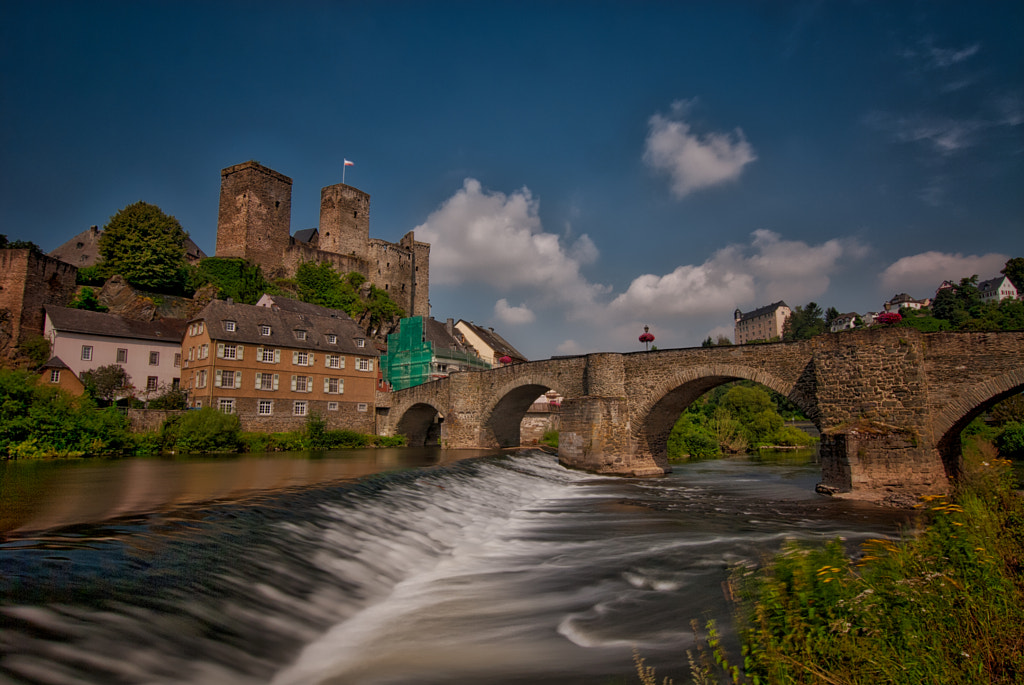
<instances>
[{"instance_id":1,"label":"wild grass and yellow-flowered weeds on the bank at bottom right","mask_svg":"<svg viewBox=\"0 0 1024 685\"><path fill-rule=\"evenodd\" d=\"M955 491L919 505L919 534L869 540L854 559L839 540L793 543L737 571L741 659L730 663L710 624L694 681L1024 682L1024 499L990 443L969 441L965 457Z\"/></svg>"}]
</instances>

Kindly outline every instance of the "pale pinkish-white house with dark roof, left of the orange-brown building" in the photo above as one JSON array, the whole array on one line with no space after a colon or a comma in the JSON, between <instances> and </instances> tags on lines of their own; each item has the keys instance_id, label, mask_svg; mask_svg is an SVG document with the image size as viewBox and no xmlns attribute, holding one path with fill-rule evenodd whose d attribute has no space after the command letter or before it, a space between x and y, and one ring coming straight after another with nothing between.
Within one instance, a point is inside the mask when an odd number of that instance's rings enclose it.
<instances>
[{"instance_id":1,"label":"pale pinkish-white house with dark roof, left of the orange-brown building","mask_svg":"<svg viewBox=\"0 0 1024 685\"><path fill-rule=\"evenodd\" d=\"M131 377L135 396L147 399L178 387L184 329L184 322L173 318L137 322L98 311L48 306L43 335L50 342L52 358L44 380L62 384L67 380L61 379L62 374L71 373L80 379L83 372L116 363Z\"/></svg>"}]
</instances>

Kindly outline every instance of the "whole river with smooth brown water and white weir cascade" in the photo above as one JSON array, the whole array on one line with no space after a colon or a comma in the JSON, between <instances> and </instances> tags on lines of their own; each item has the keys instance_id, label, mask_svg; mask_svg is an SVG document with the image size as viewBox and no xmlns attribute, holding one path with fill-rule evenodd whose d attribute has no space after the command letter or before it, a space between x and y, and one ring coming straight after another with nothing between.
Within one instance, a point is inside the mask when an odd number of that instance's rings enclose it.
<instances>
[{"instance_id":1,"label":"whole river with smooth brown water and white weir cascade","mask_svg":"<svg viewBox=\"0 0 1024 685\"><path fill-rule=\"evenodd\" d=\"M135 487L116 465L8 465L0 681L604 685L637 682L636 648L686 682L690 619L731 630L730 568L907 520L816 495L813 456L634 480L528 449L379 454L266 458L268 480L126 460ZM39 482L55 502L26 495Z\"/></svg>"}]
</instances>

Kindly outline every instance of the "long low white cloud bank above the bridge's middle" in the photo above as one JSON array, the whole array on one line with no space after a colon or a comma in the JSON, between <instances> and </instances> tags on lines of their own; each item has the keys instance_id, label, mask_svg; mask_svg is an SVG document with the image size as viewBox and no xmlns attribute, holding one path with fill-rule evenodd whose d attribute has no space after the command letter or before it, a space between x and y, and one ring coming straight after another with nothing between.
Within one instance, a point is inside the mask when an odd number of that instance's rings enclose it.
<instances>
[{"instance_id":1,"label":"long low white cloud bank above the bridge's middle","mask_svg":"<svg viewBox=\"0 0 1024 685\"><path fill-rule=\"evenodd\" d=\"M854 240L808 245L756 230L750 245L725 247L702 264L636 277L610 309L635 316L707 315L755 301L802 302L824 293L842 263L866 254L867 248Z\"/></svg>"}]
</instances>

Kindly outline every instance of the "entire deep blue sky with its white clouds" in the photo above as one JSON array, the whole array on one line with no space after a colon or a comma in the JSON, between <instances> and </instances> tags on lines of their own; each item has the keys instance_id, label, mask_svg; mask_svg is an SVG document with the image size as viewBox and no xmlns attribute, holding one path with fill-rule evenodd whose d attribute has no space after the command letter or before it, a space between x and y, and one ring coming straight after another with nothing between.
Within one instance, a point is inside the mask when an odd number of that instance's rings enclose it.
<instances>
[{"instance_id":1,"label":"entire deep blue sky with its white clouds","mask_svg":"<svg viewBox=\"0 0 1024 685\"><path fill-rule=\"evenodd\" d=\"M220 169L372 197L435 317L530 358L878 310L1024 256L1024 3L0 4L0 232L137 200L215 247Z\"/></svg>"}]
</instances>

